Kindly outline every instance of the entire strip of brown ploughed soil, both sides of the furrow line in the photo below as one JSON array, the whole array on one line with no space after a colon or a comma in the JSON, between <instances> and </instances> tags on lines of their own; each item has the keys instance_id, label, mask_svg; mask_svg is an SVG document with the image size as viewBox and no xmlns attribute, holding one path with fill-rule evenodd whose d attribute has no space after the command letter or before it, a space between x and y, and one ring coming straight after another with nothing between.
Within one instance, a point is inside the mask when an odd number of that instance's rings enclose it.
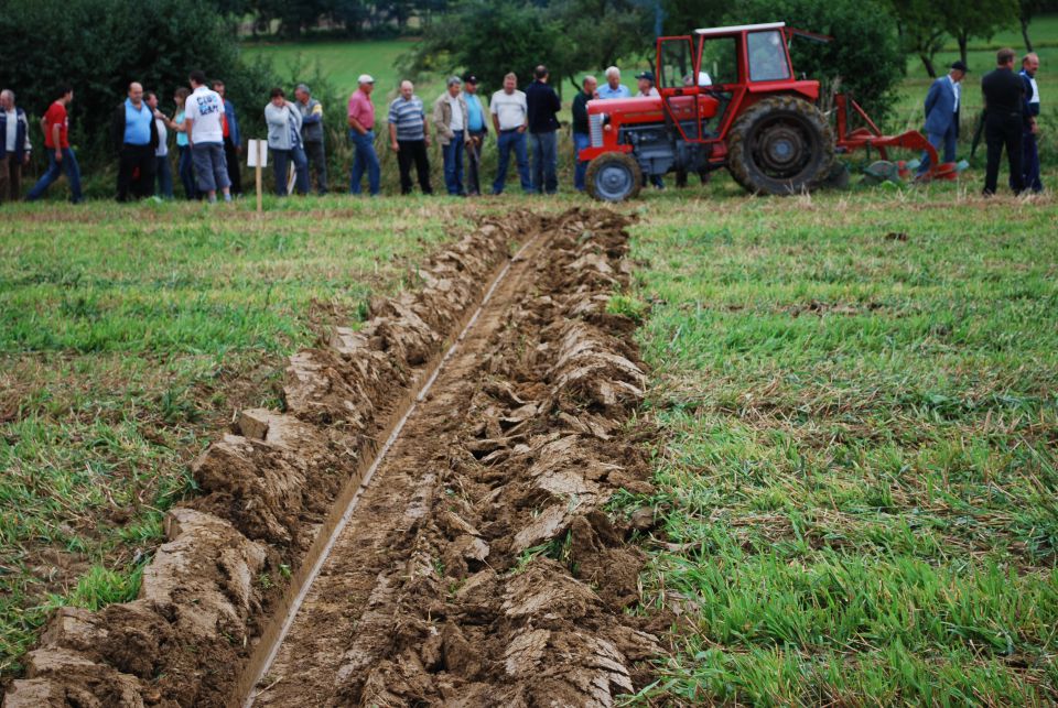
<instances>
[{"instance_id":1,"label":"entire strip of brown ploughed soil, both sides of the furrow line","mask_svg":"<svg viewBox=\"0 0 1058 708\"><path fill-rule=\"evenodd\" d=\"M284 578L303 579L514 239L531 246L361 491L257 705L607 706L644 685L660 650L624 612L643 558L601 511L649 490L629 422L645 377L630 323L606 313L630 270L625 225L486 222L421 292L292 357L287 413L246 411L203 454L204 495L170 514L139 599L61 610L4 705L240 701Z\"/></svg>"}]
</instances>

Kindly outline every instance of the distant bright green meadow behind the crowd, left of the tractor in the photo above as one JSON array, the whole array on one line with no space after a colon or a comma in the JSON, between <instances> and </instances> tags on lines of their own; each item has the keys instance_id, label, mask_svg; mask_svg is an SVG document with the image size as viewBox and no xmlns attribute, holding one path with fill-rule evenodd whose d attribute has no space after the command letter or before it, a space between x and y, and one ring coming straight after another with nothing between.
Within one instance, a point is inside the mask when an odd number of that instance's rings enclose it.
<instances>
[{"instance_id":1,"label":"distant bright green meadow behind the crowd, left of the tractor","mask_svg":"<svg viewBox=\"0 0 1058 708\"><path fill-rule=\"evenodd\" d=\"M311 70L319 62L322 74L346 97L356 90L360 74L370 74L377 99L397 95L401 76L395 64L411 46L410 41L401 40L244 44L242 54L271 62L284 76L299 66Z\"/></svg>"}]
</instances>

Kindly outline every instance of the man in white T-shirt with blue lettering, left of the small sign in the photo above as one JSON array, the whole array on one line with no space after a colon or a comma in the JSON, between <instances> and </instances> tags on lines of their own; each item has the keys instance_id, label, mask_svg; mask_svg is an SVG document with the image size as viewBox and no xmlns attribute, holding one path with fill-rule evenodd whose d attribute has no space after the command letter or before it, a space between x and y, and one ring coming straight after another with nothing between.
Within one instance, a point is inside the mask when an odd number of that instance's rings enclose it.
<instances>
[{"instance_id":1,"label":"man in white T-shirt with blue lettering, left of the small sign","mask_svg":"<svg viewBox=\"0 0 1058 708\"><path fill-rule=\"evenodd\" d=\"M187 129L187 143L198 177L198 189L217 200L217 189L224 193L224 200L231 200L231 181L228 179L228 165L224 159L224 99L206 87L206 75L199 70L191 73L192 94L184 104L184 123Z\"/></svg>"}]
</instances>

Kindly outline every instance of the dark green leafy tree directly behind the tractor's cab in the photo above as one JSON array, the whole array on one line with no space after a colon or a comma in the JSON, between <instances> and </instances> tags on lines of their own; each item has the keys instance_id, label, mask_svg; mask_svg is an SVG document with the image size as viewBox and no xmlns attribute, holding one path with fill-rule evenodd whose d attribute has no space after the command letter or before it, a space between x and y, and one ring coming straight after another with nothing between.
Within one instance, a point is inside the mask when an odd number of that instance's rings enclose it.
<instances>
[{"instance_id":1,"label":"dark green leafy tree directly behind the tractor's cab","mask_svg":"<svg viewBox=\"0 0 1058 708\"><path fill-rule=\"evenodd\" d=\"M878 119L892 110L906 61L885 7L876 0L746 0L726 18L730 24L776 20L833 37L828 43L794 39L790 55L799 75L831 85L840 79Z\"/></svg>"}]
</instances>

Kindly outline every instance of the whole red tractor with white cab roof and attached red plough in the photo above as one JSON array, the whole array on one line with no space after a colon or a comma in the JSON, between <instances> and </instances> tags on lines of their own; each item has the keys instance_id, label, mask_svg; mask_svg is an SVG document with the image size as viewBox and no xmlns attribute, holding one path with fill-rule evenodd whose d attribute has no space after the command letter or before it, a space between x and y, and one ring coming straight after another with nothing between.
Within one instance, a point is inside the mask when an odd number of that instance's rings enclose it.
<instances>
[{"instance_id":1,"label":"whole red tractor with white cab roof and attached red plough","mask_svg":"<svg viewBox=\"0 0 1058 708\"><path fill-rule=\"evenodd\" d=\"M916 131L883 135L855 101L835 97L836 140L818 107L819 81L797 79L789 41L805 35L784 22L697 30L658 39L656 98L593 100L592 144L581 151L587 192L596 199L635 197L645 177L727 167L749 192L799 194L820 184L835 152L875 148L925 150L928 176L951 171ZM848 131L848 109L866 128Z\"/></svg>"}]
</instances>

